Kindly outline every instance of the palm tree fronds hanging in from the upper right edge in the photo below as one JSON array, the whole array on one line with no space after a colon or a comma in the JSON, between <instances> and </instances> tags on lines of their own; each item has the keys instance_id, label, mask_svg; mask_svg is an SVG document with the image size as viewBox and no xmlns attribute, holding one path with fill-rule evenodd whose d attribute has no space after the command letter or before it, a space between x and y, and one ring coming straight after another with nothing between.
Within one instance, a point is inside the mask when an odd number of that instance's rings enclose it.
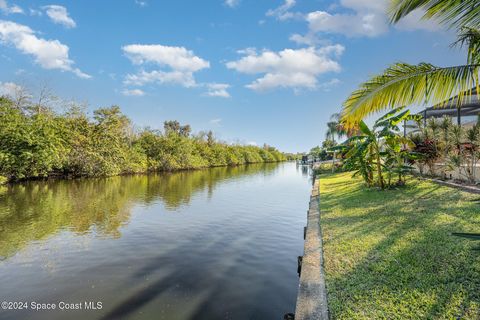
<instances>
[{"instance_id":1,"label":"palm tree fronds hanging in from the upper right edge","mask_svg":"<svg viewBox=\"0 0 480 320\"><path fill-rule=\"evenodd\" d=\"M468 6L464 6L469 3ZM426 9L426 18L437 17L450 27L462 23L458 40L453 44L466 46L467 63L460 66L437 67L422 62L418 65L395 63L360 85L344 102L342 120L352 127L367 115L387 108L411 104L442 102L458 94L457 104L471 96L472 88L479 87L480 71L480 10L478 0L391 0L392 22L417 8ZM465 11L460 9L464 8ZM473 12L473 13L472 13Z\"/></svg>"}]
</instances>

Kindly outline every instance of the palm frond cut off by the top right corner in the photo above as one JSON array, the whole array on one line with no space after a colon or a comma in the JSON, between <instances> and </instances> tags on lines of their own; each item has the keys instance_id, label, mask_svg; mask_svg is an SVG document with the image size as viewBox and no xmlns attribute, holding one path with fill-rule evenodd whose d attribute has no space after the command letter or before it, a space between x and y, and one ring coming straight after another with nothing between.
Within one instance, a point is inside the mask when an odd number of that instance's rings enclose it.
<instances>
[{"instance_id":1,"label":"palm frond cut off by the top right corner","mask_svg":"<svg viewBox=\"0 0 480 320\"><path fill-rule=\"evenodd\" d=\"M417 9L425 11L424 19L438 19L449 28L480 27L478 0L391 0L388 9L390 21L397 23Z\"/></svg>"}]
</instances>

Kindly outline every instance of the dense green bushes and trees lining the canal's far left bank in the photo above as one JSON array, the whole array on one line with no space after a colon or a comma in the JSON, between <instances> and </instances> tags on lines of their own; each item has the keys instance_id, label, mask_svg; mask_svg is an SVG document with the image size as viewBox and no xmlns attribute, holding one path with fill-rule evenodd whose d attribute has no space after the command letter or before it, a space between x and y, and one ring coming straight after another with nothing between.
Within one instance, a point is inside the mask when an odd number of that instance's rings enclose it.
<instances>
[{"instance_id":1,"label":"dense green bushes and trees lining the canal's far left bank","mask_svg":"<svg viewBox=\"0 0 480 320\"><path fill-rule=\"evenodd\" d=\"M118 106L64 112L0 97L0 176L112 176L284 161L273 147L230 145L212 132L166 121L164 132L135 130ZM5 178L3 178L5 179ZM1 181L1 180L0 180Z\"/></svg>"}]
</instances>

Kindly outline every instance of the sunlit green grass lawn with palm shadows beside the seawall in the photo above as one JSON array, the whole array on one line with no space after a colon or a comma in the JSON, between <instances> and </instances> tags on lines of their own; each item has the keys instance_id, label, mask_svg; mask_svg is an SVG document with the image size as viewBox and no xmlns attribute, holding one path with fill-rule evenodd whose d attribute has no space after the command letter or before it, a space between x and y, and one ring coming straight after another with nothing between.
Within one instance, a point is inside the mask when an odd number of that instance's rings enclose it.
<instances>
[{"instance_id":1,"label":"sunlit green grass lawn with palm shadows beside the seawall","mask_svg":"<svg viewBox=\"0 0 480 320\"><path fill-rule=\"evenodd\" d=\"M480 319L478 195L410 178L368 189L351 173L320 176L333 319Z\"/></svg>"}]
</instances>

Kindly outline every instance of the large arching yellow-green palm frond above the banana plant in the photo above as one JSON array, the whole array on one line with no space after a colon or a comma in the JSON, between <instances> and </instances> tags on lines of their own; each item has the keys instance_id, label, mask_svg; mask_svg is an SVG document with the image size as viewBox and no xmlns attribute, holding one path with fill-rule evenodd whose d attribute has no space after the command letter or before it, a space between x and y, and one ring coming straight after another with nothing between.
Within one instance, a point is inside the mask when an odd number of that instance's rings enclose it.
<instances>
[{"instance_id":1,"label":"large arching yellow-green palm frond above the banana plant","mask_svg":"<svg viewBox=\"0 0 480 320\"><path fill-rule=\"evenodd\" d=\"M479 64L439 68L429 63L396 63L360 85L343 103L347 127L366 116L401 106L429 103L441 107L458 94L461 104L478 86ZM478 89L478 88L477 88ZM479 91L480 92L480 91Z\"/></svg>"}]
</instances>

